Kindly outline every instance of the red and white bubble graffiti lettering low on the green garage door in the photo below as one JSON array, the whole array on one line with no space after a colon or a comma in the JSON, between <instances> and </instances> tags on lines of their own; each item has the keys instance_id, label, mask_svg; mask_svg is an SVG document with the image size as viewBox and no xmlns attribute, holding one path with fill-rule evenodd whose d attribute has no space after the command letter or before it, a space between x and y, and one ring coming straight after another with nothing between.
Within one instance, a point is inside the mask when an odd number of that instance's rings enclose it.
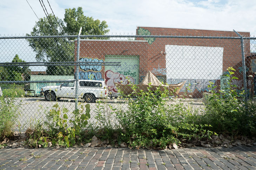
<instances>
[{"instance_id":1,"label":"red and white bubble graffiti lettering low on the green garage door","mask_svg":"<svg viewBox=\"0 0 256 170\"><path fill-rule=\"evenodd\" d=\"M123 74L120 73L114 73L111 70L107 70L105 72L105 77L106 77L106 84L109 88L109 91L112 91L113 93L117 93L117 89L116 86L114 84L114 82L116 83L122 83L122 84L134 84L135 80L133 79L133 77L130 76L124 76Z\"/></svg>"}]
</instances>

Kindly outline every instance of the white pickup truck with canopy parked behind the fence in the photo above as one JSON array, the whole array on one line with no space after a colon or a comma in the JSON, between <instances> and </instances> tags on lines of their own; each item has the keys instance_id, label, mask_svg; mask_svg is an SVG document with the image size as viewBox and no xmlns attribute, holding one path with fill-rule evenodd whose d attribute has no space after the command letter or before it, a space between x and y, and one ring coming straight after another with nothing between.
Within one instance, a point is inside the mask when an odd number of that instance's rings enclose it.
<instances>
[{"instance_id":1,"label":"white pickup truck with canopy parked behind the fence","mask_svg":"<svg viewBox=\"0 0 256 170\"><path fill-rule=\"evenodd\" d=\"M40 95L44 96L46 101L56 101L61 97L75 98L75 81L62 83L59 86L42 87ZM105 81L79 80L78 97L85 99L87 103L93 103L97 98L106 98L107 96L108 86Z\"/></svg>"}]
</instances>

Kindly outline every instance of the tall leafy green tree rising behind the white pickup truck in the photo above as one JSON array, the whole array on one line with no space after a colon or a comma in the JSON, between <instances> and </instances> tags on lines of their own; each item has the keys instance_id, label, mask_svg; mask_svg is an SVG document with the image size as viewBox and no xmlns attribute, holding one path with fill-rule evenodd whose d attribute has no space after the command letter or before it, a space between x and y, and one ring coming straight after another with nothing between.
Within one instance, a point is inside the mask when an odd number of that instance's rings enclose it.
<instances>
[{"instance_id":1,"label":"tall leafy green tree rising behind the white pickup truck","mask_svg":"<svg viewBox=\"0 0 256 170\"><path fill-rule=\"evenodd\" d=\"M65 9L64 21L53 14L36 22L27 36L77 35L82 27L82 35L104 35L109 30L106 21L93 20L83 15L82 7ZM36 61L74 61L75 46L67 38L28 38L29 46L36 53ZM47 66L47 75L74 75L73 66Z\"/></svg>"}]
</instances>

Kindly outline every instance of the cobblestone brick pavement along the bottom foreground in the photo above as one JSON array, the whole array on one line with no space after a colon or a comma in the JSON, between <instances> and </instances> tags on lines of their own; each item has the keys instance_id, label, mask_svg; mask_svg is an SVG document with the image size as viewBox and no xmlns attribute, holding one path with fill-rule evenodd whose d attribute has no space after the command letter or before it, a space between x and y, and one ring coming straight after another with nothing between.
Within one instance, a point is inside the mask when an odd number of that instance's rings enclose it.
<instances>
[{"instance_id":1,"label":"cobblestone brick pavement along the bottom foreground","mask_svg":"<svg viewBox=\"0 0 256 170\"><path fill-rule=\"evenodd\" d=\"M128 148L0 149L0 170L254 169L256 146L146 150Z\"/></svg>"}]
</instances>

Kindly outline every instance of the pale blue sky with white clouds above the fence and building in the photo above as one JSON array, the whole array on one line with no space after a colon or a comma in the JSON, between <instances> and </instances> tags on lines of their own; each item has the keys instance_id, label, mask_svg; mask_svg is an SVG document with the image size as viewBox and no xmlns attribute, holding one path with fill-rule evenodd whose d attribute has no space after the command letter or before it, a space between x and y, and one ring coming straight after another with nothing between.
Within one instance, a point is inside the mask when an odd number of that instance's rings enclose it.
<instances>
[{"instance_id":1,"label":"pale blue sky with white clouds above the fence and building","mask_svg":"<svg viewBox=\"0 0 256 170\"><path fill-rule=\"evenodd\" d=\"M35 14L45 13L37 0L27 0ZM26 0L1 0L0 34L32 31L36 15ZM52 13L47 0L43 0ZM56 16L81 6L85 16L105 20L109 34L133 34L137 26L249 31L256 35L256 0L49 0Z\"/></svg>"}]
</instances>

